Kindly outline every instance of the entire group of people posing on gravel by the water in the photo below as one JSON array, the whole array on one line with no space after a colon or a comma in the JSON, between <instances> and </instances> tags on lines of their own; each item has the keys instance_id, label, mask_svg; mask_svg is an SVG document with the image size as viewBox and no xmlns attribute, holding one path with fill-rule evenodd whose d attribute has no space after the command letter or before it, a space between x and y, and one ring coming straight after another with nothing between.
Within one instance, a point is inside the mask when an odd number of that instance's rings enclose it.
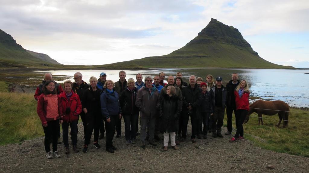
<instances>
[{"instance_id":1,"label":"entire group of people posing on gravel by the water","mask_svg":"<svg viewBox=\"0 0 309 173\"><path fill-rule=\"evenodd\" d=\"M119 72L119 80L107 80L102 72L99 79L91 76L89 83L83 81L83 75L74 74L74 83L65 81L63 88L52 80L52 75L44 75L44 81L37 87L35 99L38 101L37 113L41 119L45 133L44 146L47 158L59 158L57 152L62 125L62 138L66 154L70 153L69 126L72 149L78 152L77 134L79 116L84 128L83 152L88 151L92 133L95 148L100 148L99 139L106 132L106 151L114 153L113 138L121 137L121 119L125 123L125 144L135 144L140 117L141 147L146 141L152 146L160 140L163 133L163 150L167 151L170 140L171 147L179 150L177 145L187 138L188 120L191 119L191 141L212 137L223 138L221 127L226 108L227 131L232 132L232 112L235 113L236 133L229 142L243 140L243 122L249 111L249 88L246 80L238 80L238 74L232 74L232 80L222 85L222 77L214 80L207 75L205 82L202 77L191 75L189 83L182 79L178 72L164 82L165 73L154 77L142 74L125 79L126 73ZM104 128L105 123L105 128ZM177 133L178 132L178 133ZM53 152L50 150L52 142Z\"/></svg>"}]
</instances>

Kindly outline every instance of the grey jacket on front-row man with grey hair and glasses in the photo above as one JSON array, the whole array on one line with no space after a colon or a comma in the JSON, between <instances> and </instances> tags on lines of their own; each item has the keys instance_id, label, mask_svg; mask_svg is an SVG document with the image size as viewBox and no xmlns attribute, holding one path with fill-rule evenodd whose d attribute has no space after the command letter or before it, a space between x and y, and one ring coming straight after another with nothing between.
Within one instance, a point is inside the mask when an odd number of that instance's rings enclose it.
<instances>
[{"instance_id":1,"label":"grey jacket on front-row man with grey hair and glasses","mask_svg":"<svg viewBox=\"0 0 309 173\"><path fill-rule=\"evenodd\" d=\"M159 93L155 86L152 86L151 93L149 88L143 86L137 93L135 105L140 110L141 118L157 117L159 113Z\"/></svg>"}]
</instances>

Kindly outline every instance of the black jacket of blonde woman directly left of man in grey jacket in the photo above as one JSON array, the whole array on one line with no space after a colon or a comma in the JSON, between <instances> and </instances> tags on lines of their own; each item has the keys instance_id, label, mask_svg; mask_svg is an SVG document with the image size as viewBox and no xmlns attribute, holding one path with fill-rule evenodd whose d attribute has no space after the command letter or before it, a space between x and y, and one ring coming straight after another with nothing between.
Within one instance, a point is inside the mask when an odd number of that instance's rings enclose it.
<instances>
[{"instance_id":1,"label":"black jacket of blonde woman directly left of man in grey jacket","mask_svg":"<svg viewBox=\"0 0 309 173\"><path fill-rule=\"evenodd\" d=\"M121 92L119 97L119 102L124 115L136 115L139 112L138 107L135 105L137 88L134 87L134 90L130 91L128 88Z\"/></svg>"}]
</instances>

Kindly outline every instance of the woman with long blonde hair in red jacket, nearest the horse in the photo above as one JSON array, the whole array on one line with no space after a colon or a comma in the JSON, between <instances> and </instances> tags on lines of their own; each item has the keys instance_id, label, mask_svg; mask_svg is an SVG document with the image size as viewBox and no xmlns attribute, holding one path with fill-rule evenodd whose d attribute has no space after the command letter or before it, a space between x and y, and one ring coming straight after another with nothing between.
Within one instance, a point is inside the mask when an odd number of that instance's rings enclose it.
<instances>
[{"instance_id":1,"label":"woman with long blonde hair in red jacket, nearest the horse","mask_svg":"<svg viewBox=\"0 0 309 173\"><path fill-rule=\"evenodd\" d=\"M236 140L244 140L243 138L243 121L248 115L249 111L249 96L250 91L246 80L242 80L240 84L235 88L235 103L236 103L236 134L229 142Z\"/></svg>"}]
</instances>

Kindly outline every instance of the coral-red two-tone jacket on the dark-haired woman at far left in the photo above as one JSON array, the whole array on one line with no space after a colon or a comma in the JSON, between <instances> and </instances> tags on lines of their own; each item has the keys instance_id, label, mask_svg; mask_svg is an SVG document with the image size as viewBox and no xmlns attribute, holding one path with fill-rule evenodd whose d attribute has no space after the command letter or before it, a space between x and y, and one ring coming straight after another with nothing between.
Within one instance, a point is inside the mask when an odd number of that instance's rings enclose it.
<instances>
[{"instance_id":1,"label":"coral-red two-tone jacket on the dark-haired woman at far left","mask_svg":"<svg viewBox=\"0 0 309 173\"><path fill-rule=\"evenodd\" d=\"M43 125L47 124L48 121L62 119L62 109L58 95L41 94L38 97L36 112L38 113Z\"/></svg>"}]
</instances>

